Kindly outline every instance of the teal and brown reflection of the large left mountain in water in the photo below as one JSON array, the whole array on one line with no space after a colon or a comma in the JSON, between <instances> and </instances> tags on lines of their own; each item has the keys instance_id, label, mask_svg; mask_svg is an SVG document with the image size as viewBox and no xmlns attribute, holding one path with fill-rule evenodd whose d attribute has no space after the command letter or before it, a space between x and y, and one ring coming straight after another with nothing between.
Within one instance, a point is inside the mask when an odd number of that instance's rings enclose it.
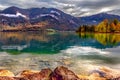
<instances>
[{"instance_id":1,"label":"teal and brown reflection of the large left mountain in water","mask_svg":"<svg viewBox=\"0 0 120 80\"><path fill-rule=\"evenodd\" d=\"M76 38L75 33L0 33L0 50L13 54L54 54L74 45Z\"/></svg>"}]
</instances>

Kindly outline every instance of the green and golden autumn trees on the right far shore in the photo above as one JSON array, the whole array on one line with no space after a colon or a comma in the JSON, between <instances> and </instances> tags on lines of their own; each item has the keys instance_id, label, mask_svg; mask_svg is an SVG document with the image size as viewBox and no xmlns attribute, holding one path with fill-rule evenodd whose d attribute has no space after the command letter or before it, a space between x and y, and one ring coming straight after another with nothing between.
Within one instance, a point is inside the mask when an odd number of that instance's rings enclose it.
<instances>
[{"instance_id":1,"label":"green and golden autumn trees on the right far shore","mask_svg":"<svg viewBox=\"0 0 120 80\"><path fill-rule=\"evenodd\" d=\"M108 20L105 19L98 25L82 25L76 32L101 32L111 33L120 32L120 21L117 19Z\"/></svg>"}]
</instances>

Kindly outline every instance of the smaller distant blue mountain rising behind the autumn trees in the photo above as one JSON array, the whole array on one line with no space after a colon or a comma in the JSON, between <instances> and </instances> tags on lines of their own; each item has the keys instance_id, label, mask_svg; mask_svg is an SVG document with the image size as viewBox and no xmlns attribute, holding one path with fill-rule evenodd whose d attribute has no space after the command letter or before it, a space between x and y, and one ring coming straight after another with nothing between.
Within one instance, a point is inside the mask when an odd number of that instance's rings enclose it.
<instances>
[{"instance_id":1,"label":"smaller distant blue mountain rising behind the autumn trees","mask_svg":"<svg viewBox=\"0 0 120 80\"><path fill-rule=\"evenodd\" d=\"M95 25L95 24L99 24L104 19L120 20L120 16L114 15L114 14L109 14L109 13L99 13L99 14L95 14L95 15L91 15L91 16L80 17L79 19L81 20L82 24Z\"/></svg>"}]
</instances>

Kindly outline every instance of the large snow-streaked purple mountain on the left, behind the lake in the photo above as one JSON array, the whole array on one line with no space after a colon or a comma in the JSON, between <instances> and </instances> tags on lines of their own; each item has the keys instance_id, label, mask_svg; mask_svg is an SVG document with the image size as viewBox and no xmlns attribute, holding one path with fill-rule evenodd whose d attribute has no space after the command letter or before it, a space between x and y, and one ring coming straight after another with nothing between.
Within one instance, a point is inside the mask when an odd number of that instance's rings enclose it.
<instances>
[{"instance_id":1,"label":"large snow-streaked purple mountain on the left, behind the lake","mask_svg":"<svg viewBox=\"0 0 120 80\"><path fill-rule=\"evenodd\" d=\"M56 30L75 30L79 26L79 19L55 8L22 9L15 6L0 12L0 23L17 25L29 23L31 25L46 22L46 28Z\"/></svg>"}]
</instances>

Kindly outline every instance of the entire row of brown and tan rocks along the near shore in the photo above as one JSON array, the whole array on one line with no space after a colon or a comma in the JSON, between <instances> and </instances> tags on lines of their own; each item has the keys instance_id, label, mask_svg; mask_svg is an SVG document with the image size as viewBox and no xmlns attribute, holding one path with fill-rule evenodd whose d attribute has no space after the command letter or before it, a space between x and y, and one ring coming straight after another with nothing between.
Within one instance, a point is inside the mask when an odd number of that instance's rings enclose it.
<instances>
[{"instance_id":1,"label":"entire row of brown and tan rocks along the near shore","mask_svg":"<svg viewBox=\"0 0 120 80\"><path fill-rule=\"evenodd\" d=\"M120 71L101 67L90 71L89 75L80 75L59 66L54 70L49 68L41 71L24 70L15 75L9 70L0 70L0 80L120 80Z\"/></svg>"}]
</instances>

